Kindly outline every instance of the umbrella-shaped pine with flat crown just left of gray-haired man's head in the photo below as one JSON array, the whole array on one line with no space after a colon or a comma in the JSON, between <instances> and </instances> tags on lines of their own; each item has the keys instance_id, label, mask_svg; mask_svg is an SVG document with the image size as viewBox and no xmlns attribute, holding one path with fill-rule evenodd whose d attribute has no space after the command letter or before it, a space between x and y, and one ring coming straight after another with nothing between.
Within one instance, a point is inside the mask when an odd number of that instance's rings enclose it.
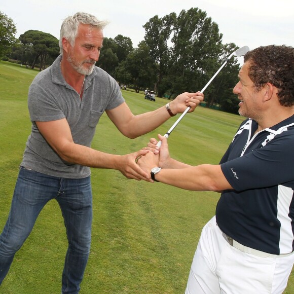
<instances>
[{"instance_id":1,"label":"umbrella-shaped pine with flat crown just left of gray-haired man's head","mask_svg":"<svg viewBox=\"0 0 294 294\"><path fill-rule=\"evenodd\" d=\"M40 70L46 66L48 56L57 57L59 54L58 39L50 33L39 30L27 30L19 36L23 45L32 47L34 60L31 68L34 68L36 62L40 60Z\"/></svg>"}]
</instances>

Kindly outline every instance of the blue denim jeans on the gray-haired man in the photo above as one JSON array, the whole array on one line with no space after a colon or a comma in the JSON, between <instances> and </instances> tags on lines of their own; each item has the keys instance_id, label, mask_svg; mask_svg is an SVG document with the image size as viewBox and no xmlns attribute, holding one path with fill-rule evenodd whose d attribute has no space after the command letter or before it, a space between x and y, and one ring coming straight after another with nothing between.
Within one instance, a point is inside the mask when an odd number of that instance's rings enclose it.
<instances>
[{"instance_id":1,"label":"blue denim jeans on the gray-haired man","mask_svg":"<svg viewBox=\"0 0 294 294\"><path fill-rule=\"evenodd\" d=\"M78 293L87 265L92 224L90 176L69 179L20 168L11 210L0 236L0 285L14 255L30 234L45 204L56 199L64 219L68 249L62 274L62 293Z\"/></svg>"}]
</instances>

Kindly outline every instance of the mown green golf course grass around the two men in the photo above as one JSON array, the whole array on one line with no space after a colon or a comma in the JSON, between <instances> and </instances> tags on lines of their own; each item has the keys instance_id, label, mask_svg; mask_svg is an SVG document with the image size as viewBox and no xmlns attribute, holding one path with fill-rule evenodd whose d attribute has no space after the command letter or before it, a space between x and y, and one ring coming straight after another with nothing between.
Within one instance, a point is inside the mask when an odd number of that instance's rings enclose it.
<instances>
[{"instance_id":1,"label":"mown green golf course grass around the two men","mask_svg":"<svg viewBox=\"0 0 294 294\"><path fill-rule=\"evenodd\" d=\"M26 98L36 73L0 62L0 231L30 133ZM134 114L167 102L145 100L143 94L132 91L122 93ZM135 152L150 137L164 134L176 119L130 140L104 114L92 147L121 155ZM241 121L239 116L198 107L171 134L170 152L193 165L217 164ZM219 194L127 180L118 171L102 169L92 169L92 186L92 248L81 294L183 293L201 229L214 215ZM0 293L59 293L66 248L61 213L56 201L51 201L16 253ZM285 293L293 292L291 274Z\"/></svg>"}]
</instances>

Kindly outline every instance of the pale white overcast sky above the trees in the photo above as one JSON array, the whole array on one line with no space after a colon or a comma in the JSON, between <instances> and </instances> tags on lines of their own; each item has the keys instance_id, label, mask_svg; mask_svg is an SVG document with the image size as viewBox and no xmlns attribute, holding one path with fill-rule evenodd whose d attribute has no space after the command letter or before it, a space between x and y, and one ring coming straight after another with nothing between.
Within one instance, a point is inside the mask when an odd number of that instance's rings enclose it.
<instances>
[{"instance_id":1,"label":"pale white overcast sky above the trees","mask_svg":"<svg viewBox=\"0 0 294 294\"><path fill-rule=\"evenodd\" d=\"M218 24L223 43L250 49L266 45L294 47L294 2L292 0L0 0L0 11L17 26L16 37L29 29L51 33L59 39L65 17L78 11L110 21L104 36L131 38L133 47L144 40L142 27L155 15L177 15L198 7Z\"/></svg>"}]
</instances>

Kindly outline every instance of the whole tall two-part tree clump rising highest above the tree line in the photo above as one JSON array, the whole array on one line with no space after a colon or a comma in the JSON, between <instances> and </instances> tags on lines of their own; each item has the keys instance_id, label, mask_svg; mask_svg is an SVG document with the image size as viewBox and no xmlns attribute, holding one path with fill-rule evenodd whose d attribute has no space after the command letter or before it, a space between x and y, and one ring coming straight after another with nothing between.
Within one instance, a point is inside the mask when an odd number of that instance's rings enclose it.
<instances>
[{"instance_id":1,"label":"whole tall two-part tree clump rising highest above the tree line","mask_svg":"<svg viewBox=\"0 0 294 294\"><path fill-rule=\"evenodd\" d=\"M222 54L222 34L204 11L191 8L178 16L154 16L144 26L145 42L156 63L158 96L197 91Z\"/></svg>"}]
</instances>

